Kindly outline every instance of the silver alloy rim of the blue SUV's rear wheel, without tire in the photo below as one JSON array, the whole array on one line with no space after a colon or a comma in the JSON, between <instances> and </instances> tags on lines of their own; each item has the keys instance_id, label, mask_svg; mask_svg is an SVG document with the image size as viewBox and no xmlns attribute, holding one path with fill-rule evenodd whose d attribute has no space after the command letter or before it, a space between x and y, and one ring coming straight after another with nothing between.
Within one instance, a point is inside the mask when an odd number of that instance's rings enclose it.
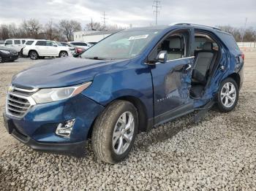
<instances>
[{"instance_id":1,"label":"silver alloy rim of the blue SUV's rear wheel, without tire","mask_svg":"<svg viewBox=\"0 0 256 191\"><path fill-rule=\"evenodd\" d=\"M225 107L231 107L236 101L236 87L233 83L227 82L221 90L221 101Z\"/></svg>"}]
</instances>

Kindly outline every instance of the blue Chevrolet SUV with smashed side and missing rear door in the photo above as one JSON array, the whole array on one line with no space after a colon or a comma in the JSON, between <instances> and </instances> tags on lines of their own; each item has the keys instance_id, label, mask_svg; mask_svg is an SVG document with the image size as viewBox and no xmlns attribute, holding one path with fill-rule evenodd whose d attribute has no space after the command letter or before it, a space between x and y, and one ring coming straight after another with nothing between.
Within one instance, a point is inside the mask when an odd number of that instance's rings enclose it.
<instances>
[{"instance_id":1,"label":"blue Chevrolet SUV with smashed side and missing rear door","mask_svg":"<svg viewBox=\"0 0 256 191\"><path fill-rule=\"evenodd\" d=\"M140 131L216 104L230 112L243 82L244 54L219 28L179 23L131 28L80 58L58 58L12 78L4 122L35 150L95 155L118 163Z\"/></svg>"}]
</instances>

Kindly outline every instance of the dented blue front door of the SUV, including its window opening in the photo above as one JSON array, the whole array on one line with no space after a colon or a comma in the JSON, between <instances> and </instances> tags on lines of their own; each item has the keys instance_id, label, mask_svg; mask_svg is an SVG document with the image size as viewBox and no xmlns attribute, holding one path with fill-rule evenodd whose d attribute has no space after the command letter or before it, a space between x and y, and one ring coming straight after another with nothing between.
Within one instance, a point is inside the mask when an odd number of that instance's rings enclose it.
<instances>
[{"instance_id":1,"label":"dented blue front door of the SUV, including its window opening","mask_svg":"<svg viewBox=\"0 0 256 191\"><path fill-rule=\"evenodd\" d=\"M167 51L168 58L166 63L157 63L151 69L155 124L192 111L192 35L192 29L177 31L157 45L157 52Z\"/></svg>"}]
</instances>

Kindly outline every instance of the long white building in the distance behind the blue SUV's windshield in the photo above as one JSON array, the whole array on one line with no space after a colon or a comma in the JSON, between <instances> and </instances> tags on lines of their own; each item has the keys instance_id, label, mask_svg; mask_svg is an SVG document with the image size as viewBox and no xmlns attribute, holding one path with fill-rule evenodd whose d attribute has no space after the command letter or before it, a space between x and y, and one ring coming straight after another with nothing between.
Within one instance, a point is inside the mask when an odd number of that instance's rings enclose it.
<instances>
[{"instance_id":1,"label":"long white building in the distance behind the blue SUV's windshield","mask_svg":"<svg viewBox=\"0 0 256 191\"><path fill-rule=\"evenodd\" d=\"M112 31L78 31L74 33L74 41L83 42L99 42L110 34L117 33L122 30L112 30Z\"/></svg>"}]
</instances>

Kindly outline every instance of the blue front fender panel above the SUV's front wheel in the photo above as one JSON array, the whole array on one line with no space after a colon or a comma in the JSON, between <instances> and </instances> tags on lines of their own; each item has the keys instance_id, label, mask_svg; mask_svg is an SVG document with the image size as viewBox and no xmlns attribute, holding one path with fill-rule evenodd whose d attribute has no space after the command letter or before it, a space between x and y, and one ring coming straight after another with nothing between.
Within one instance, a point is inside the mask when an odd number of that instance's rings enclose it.
<instances>
[{"instance_id":1,"label":"blue front fender panel above the SUV's front wheel","mask_svg":"<svg viewBox=\"0 0 256 191\"><path fill-rule=\"evenodd\" d=\"M146 106L148 117L154 117L153 88L150 69L126 69L105 74L97 74L91 86L83 91L83 95L102 106L123 96L139 98Z\"/></svg>"}]
</instances>

